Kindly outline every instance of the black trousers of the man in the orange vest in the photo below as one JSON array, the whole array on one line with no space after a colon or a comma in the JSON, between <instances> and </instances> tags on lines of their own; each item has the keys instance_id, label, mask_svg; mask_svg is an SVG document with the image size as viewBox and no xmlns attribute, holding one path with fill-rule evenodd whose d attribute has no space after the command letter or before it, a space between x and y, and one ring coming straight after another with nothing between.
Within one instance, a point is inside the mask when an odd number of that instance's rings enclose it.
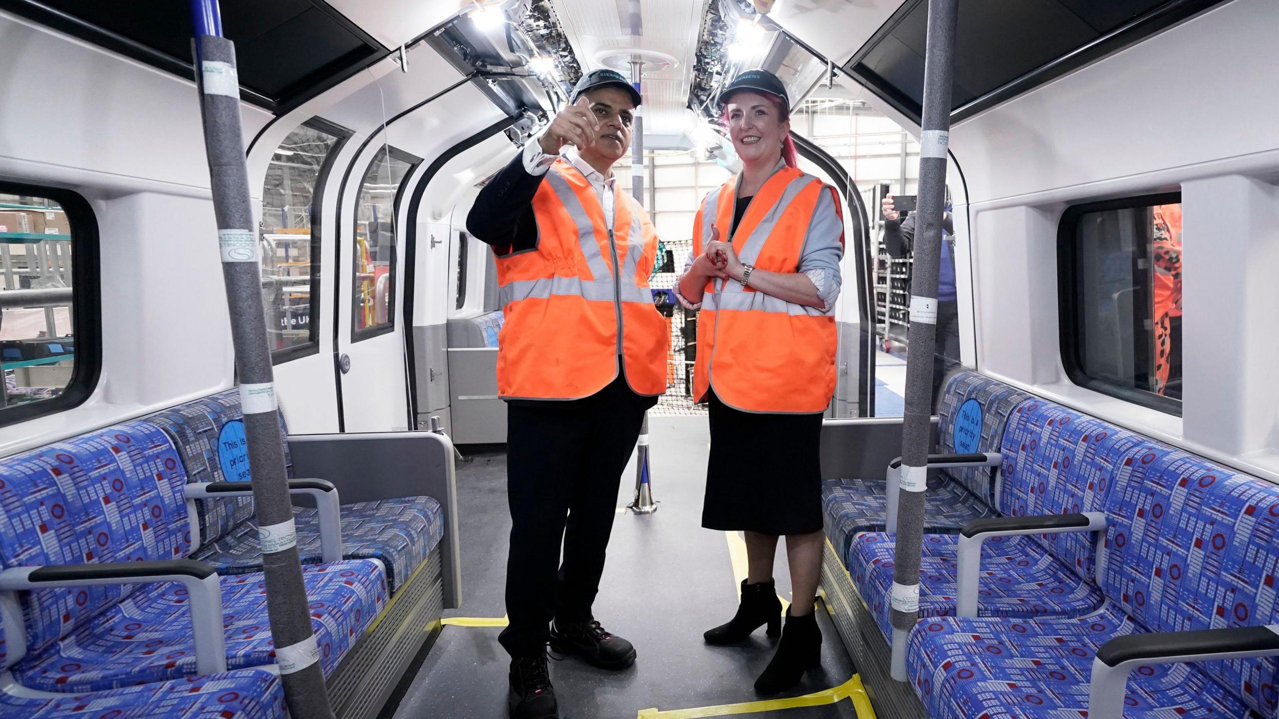
<instances>
[{"instance_id":1,"label":"black trousers of the man in the orange vest","mask_svg":"<svg viewBox=\"0 0 1279 719\"><path fill-rule=\"evenodd\" d=\"M510 624L498 640L512 656L544 651L551 619L592 618L622 472L654 403L619 377L586 399L509 404Z\"/></svg>"}]
</instances>

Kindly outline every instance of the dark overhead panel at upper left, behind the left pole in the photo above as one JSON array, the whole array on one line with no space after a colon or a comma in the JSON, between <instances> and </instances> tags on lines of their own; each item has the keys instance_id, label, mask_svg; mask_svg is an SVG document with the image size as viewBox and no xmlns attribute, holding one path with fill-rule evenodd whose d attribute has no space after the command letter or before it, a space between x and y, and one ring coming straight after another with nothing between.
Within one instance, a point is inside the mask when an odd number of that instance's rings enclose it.
<instances>
[{"instance_id":1,"label":"dark overhead panel at upper left, behind the left pole","mask_svg":"<svg viewBox=\"0 0 1279 719\"><path fill-rule=\"evenodd\" d=\"M313 96L388 50L320 0L221 0L246 100L279 109ZM0 8L193 77L184 0L0 0Z\"/></svg>"}]
</instances>

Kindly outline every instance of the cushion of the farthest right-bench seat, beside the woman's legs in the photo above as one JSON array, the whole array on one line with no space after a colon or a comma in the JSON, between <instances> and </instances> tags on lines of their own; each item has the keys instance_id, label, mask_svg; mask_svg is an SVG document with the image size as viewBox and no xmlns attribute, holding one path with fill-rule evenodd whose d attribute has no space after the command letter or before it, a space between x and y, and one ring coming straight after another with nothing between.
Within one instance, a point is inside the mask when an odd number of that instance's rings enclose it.
<instances>
[{"instance_id":1,"label":"cushion of the farthest right-bench seat, beside the woman's legs","mask_svg":"<svg viewBox=\"0 0 1279 719\"><path fill-rule=\"evenodd\" d=\"M888 513L886 480L826 480L821 491L826 536L848 562L849 541L858 532L884 531ZM923 531L958 533L964 525L995 513L957 482L943 477L929 480L925 494ZM847 564L845 564L847 565Z\"/></svg>"}]
</instances>

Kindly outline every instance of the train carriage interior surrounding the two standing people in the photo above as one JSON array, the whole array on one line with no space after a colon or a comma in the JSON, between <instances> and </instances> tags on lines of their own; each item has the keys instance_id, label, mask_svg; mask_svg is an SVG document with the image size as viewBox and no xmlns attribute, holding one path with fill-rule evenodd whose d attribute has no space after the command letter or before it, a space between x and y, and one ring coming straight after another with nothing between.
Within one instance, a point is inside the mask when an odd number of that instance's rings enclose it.
<instances>
[{"instance_id":1,"label":"train carriage interior surrounding the two standing people","mask_svg":"<svg viewBox=\"0 0 1279 719\"><path fill-rule=\"evenodd\" d=\"M1276 31L1274 0L0 0L0 716L513 711L518 283L468 215L601 69L656 233L605 280L614 354L623 289L669 342L593 603L638 659L551 650L558 716L1276 716ZM824 641L771 696L775 632L702 638L748 536L702 527L679 289L751 69L843 223Z\"/></svg>"}]
</instances>

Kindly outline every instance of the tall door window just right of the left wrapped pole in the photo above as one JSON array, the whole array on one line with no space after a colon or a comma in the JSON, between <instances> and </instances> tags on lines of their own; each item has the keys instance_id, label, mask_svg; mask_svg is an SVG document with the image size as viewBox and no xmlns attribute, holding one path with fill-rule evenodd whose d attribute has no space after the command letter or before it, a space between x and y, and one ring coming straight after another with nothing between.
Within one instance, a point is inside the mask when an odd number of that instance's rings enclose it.
<instances>
[{"instance_id":1,"label":"tall door window just right of the left wrapped pole","mask_svg":"<svg viewBox=\"0 0 1279 719\"><path fill-rule=\"evenodd\" d=\"M318 351L320 205L324 183L349 133L321 120L298 125L271 156L262 187L262 304L271 357Z\"/></svg>"}]
</instances>

